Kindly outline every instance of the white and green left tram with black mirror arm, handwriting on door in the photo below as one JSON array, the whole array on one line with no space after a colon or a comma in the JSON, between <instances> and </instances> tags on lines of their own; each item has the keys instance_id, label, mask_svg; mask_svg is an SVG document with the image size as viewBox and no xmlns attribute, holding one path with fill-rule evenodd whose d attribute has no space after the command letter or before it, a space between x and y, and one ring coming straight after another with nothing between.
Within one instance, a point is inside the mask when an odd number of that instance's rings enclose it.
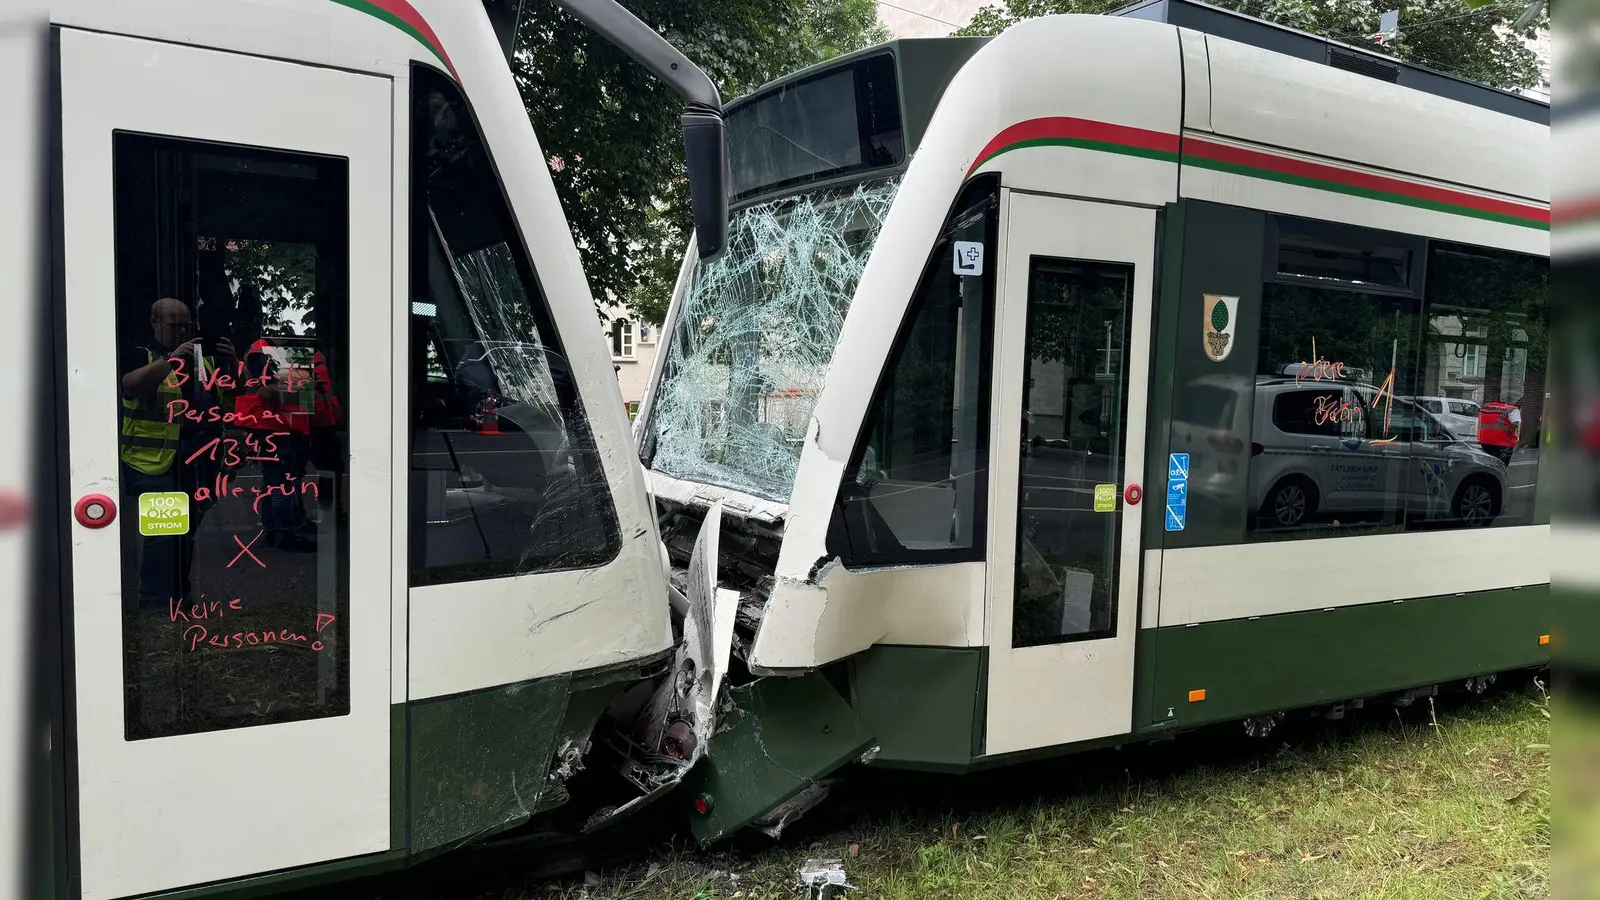
<instances>
[{"instance_id":1,"label":"white and green left tram with black mirror arm, handwriting on door","mask_svg":"<svg viewBox=\"0 0 1600 900\"><path fill-rule=\"evenodd\" d=\"M683 94L714 255L715 86L610 0L562 6L523 38L592 27ZM254 895L494 836L566 809L602 711L669 671L520 16L51 5L30 898Z\"/></svg>"}]
</instances>

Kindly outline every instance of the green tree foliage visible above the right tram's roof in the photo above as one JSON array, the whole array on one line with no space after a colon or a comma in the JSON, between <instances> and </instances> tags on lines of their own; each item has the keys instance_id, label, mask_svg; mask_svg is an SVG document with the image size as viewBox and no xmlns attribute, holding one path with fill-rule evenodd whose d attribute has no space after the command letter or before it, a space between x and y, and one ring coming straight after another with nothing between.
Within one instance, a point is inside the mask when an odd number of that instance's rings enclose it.
<instances>
[{"instance_id":1,"label":"green tree foliage visible above the right tram's roof","mask_svg":"<svg viewBox=\"0 0 1600 900\"><path fill-rule=\"evenodd\" d=\"M1368 46L1408 62L1506 90L1539 83L1539 61L1526 45L1549 27L1549 10L1514 27L1526 0L1208 0L1214 6L1277 22L1344 43ZM1126 0L1000 0L973 16L963 35L994 35L1034 16L1104 14ZM1378 45L1378 19L1400 10L1400 34Z\"/></svg>"}]
</instances>

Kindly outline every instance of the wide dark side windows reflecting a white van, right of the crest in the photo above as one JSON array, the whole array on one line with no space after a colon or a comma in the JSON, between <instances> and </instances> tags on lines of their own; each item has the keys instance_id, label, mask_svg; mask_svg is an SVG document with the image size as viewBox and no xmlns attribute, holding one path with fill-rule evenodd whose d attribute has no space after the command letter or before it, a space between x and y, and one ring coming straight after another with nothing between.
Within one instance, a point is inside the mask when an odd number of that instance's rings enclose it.
<instances>
[{"instance_id":1,"label":"wide dark side windows reflecting a white van, right of the crest","mask_svg":"<svg viewBox=\"0 0 1600 900\"><path fill-rule=\"evenodd\" d=\"M1275 234L1278 271L1261 304L1253 536L1531 524L1547 261L1429 242L1422 283L1421 250L1405 250L1421 239L1338 226L1328 234L1354 243L1317 245L1333 263L1312 277L1309 263L1294 272L1283 263L1306 256L1288 243L1306 242L1288 226Z\"/></svg>"}]
</instances>

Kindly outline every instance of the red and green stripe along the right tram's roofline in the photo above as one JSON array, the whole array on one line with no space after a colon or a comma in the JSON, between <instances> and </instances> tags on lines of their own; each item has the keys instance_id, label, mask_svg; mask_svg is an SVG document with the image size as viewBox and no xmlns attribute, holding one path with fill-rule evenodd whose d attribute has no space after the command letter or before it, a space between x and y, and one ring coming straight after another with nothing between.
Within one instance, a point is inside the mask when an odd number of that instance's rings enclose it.
<instances>
[{"instance_id":1,"label":"red and green stripe along the right tram's roofline","mask_svg":"<svg viewBox=\"0 0 1600 900\"><path fill-rule=\"evenodd\" d=\"M1496 200L1464 191L1416 184L1400 178L1352 171L1200 138L1186 138L1179 143L1178 135L1088 119L1050 117L1019 122L984 146L968 175L1002 154L1024 147L1077 147L1162 162L1182 162L1213 171L1330 191L1349 197L1365 197L1520 227L1550 229L1550 211L1528 203Z\"/></svg>"}]
</instances>

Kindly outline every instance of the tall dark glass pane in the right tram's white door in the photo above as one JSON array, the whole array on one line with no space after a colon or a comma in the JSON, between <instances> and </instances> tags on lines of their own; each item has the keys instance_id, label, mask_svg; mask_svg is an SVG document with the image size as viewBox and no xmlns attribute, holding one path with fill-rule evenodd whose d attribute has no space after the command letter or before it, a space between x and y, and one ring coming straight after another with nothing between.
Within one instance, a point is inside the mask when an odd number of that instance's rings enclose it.
<instances>
[{"instance_id":1,"label":"tall dark glass pane in the right tram's white door","mask_svg":"<svg viewBox=\"0 0 1600 900\"><path fill-rule=\"evenodd\" d=\"M1131 293L1133 266L1029 263L1013 647L1115 634L1122 516L1093 485L1123 482Z\"/></svg>"}]
</instances>

